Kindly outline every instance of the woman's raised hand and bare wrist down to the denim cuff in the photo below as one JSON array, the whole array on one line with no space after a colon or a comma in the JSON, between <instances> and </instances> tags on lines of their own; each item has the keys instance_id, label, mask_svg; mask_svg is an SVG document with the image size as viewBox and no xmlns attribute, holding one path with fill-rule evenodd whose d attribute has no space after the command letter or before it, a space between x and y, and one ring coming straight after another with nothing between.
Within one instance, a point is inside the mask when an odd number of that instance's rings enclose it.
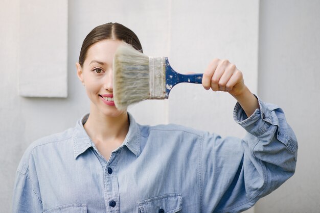
<instances>
[{"instance_id":1,"label":"woman's raised hand and bare wrist down to the denim cuff","mask_svg":"<svg viewBox=\"0 0 320 213\"><path fill-rule=\"evenodd\" d=\"M248 117L259 108L258 99L244 85L242 72L228 60L214 59L203 73L202 86L230 93Z\"/></svg>"}]
</instances>

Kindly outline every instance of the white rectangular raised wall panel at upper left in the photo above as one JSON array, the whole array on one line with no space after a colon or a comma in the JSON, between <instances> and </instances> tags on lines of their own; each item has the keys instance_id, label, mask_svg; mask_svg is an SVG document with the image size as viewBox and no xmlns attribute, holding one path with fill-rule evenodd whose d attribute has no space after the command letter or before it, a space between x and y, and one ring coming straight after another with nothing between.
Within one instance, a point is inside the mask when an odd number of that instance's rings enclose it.
<instances>
[{"instance_id":1,"label":"white rectangular raised wall panel at upper left","mask_svg":"<svg viewBox=\"0 0 320 213\"><path fill-rule=\"evenodd\" d=\"M67 96L67 0L20 1L19 95Z\"/></svg>"}]
</instances>

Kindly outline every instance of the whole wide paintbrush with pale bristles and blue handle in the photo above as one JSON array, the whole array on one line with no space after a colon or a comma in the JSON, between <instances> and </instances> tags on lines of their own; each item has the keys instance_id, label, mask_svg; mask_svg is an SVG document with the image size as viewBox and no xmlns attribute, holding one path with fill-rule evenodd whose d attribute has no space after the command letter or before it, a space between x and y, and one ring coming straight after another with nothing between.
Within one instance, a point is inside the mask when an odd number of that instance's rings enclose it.
<instances>
[{"instance_id":1,"label":"whole wide paintbrush with pale bristles and blue handle","mask_svg":"<svg viewBox=\"0 0 320 213\"><path fill-rule=\"evenodd\" d=\"M124 43L113 58L113 97L119 110L146 99L165 99L179 83L202 83L202 73L180 74L167 57L148 57Z\"/></svg>"}]
</instances>

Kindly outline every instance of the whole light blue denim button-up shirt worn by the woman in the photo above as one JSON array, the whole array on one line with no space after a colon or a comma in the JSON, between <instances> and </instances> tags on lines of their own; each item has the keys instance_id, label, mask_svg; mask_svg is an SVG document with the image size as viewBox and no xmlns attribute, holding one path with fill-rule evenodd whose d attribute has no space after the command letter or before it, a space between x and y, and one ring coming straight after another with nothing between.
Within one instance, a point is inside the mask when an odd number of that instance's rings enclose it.
<instances>
[{"instance_id":1,"label":"whole light blue denim button-up shirt worn by the woman","mask_svg":"<svg viewBox=\"0 0 320 213\"><path fill-rule=\"evenodd\" d=\"M105 159L81 118L26 150L13 212L239 212L293 175L298 144L283 111L262 102L234 119L243 139L179 125L145 126L128 114L123 144Z\"/></svg>"}]
</instances>

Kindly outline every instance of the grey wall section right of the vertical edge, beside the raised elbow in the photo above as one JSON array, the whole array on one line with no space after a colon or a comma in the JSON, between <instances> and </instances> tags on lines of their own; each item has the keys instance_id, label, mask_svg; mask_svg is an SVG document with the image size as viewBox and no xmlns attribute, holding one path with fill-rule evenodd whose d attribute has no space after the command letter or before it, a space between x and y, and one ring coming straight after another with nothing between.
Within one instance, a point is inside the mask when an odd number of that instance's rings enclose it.
<instances>
[{"instance_id":1,"label":"grey wall section right of the vertical edge, beside the raised elbow","mask_svg":"<svg viewBox=\"0 0 320 213\"><path fill-rule=\"evenodd\" d=\"M320 212L320 1L260 1L259 95L280 105L299 142L296 172L255 212Z\"/></svg>"}]
</instances>

